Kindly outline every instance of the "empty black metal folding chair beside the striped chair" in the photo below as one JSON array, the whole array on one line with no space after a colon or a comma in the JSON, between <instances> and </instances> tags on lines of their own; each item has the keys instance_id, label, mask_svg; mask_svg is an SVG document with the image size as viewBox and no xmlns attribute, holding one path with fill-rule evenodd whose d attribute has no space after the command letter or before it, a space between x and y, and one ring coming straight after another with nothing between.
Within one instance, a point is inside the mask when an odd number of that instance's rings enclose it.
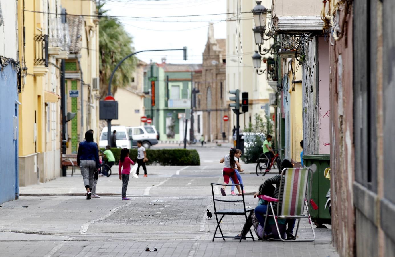
<instances>
[{"instance_id":1,"label":"empty black metal folding chair beside the striped chair","mask_svg":"<svg viewBox=\"0 0 395 257\"><path fill-rule=\"evenodd\" d=\"M248 212L252 212L254 209L246 209L246 204L245 204L245 200L244 200L244 193L243 193L243 184L233 184L233 185L240 185L241 186L241 199L238 197L233 197L235 199L238 200L222 200L221 198L215 198L214 196L214 185L219 185L219 186L223 186L224 184L218 184L218 183L211 183L211 191L213 192L213 203L214 203L214 214L215 214L215 218L217 221L217 227L215 228L215 232L214 232L214 237L213 237L213 241L214 238L222 238L225 241L225 238L233 238L236 239L234 236L224 236L224 234L222 233L221 227L220 227L220 223L222 221L222 219L225 217L225 215L244 215L246 221L247 221L247 213ZM229 184L228 186L231 186L232 184ZM219 197L219 196L218 196ZM218 210L216 209L216 202L243 202L243 209L222 209L222 210ZM218 220L218 215L222 215L222 217ZM221 232L221 236L215 236L217 233L217 230L220 230ZM249 229L251 237L243 237L240 236L240 241L244 238L252 238L253 241L255 241L254 236L252 235L251 229ZM243 235L244 232L244 227L243 230L241 231L241 235ZM238 238L237 238L238 239Z\"/></svg>"}]
</instances>

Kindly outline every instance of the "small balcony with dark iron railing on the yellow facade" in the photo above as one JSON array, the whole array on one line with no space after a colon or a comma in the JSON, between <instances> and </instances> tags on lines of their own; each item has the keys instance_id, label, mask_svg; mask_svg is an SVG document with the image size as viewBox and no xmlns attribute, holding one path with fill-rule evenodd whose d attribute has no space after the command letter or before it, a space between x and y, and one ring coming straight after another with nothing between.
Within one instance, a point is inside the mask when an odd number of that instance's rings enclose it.
<instances>
[{"instance_id":1,"label":"small balcony with dark iron railing on the yellow facade","mask_svg":"<svg viewBox=\"0 0 395 257\"><path fill-rule=\"evenodd\" d=\"M34 35L34 66L35 76L45 76L48 68L48 35Z\"/></svg>"}]
</instances>

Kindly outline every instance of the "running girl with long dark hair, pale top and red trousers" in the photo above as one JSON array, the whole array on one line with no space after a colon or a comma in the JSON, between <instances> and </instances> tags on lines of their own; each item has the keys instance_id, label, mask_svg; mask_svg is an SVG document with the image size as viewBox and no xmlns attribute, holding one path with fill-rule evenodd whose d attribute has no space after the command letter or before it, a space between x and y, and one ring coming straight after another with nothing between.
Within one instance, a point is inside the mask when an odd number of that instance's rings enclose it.
<instances>
[{"instance_id":1,"label":"running girl with long dark hair, pale top and red trousers","mask_svg":"<svg viewBox=\"0 0 395 257\"><path fill-rule=\"evenodd\" d=\"M222 170L222 176L224 176L224 186L221 188L221 194L223 196L226 196L225 188L226 185L229 184L229 178L232 178L235 184L239 183L239 180L236 176L235 167L237 166L237 169L240 170L241 166L239 164L239 160L235 157L235 153L236 149L231 148L229 154L220 159L220 163L224 163L224 169ZM242 195L240 185L237 185L236 187L239 191L239 195Z\"/></svg>"}]
</instances>

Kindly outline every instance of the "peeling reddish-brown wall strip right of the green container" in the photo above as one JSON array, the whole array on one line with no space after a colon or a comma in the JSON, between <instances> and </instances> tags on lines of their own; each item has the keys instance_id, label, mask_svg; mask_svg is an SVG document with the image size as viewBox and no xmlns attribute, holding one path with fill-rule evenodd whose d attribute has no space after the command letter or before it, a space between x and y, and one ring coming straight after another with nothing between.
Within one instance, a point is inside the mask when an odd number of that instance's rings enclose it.
<instances>
[{"instance_id":1,"label":"peeling reddish-brown wall strip right of the green container","mask_svg":"<svg viewBox=\"0 0 395 257\"><path fill-rule=\"evenodd\" d=\"M344 11L340 12L340 20ZM353 143L353 52L352 15L347 17L344 36L329 45L330 64L330 142L331 142L331 197L333 244L341 256L353 256L354 181ZM369 232L369 234L374 234ZM373 255L372 255L373 256Z\"/></svg>"}]
</instances>

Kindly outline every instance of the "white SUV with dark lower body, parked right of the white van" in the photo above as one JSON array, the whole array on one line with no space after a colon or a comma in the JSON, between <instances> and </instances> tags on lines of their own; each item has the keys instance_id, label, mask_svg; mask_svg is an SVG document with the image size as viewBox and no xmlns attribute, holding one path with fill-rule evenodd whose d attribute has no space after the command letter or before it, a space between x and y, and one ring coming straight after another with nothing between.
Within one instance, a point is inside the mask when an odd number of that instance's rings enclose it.
<instances>
[{"instance_id":1,"label":"white SUV with dark lower body, parked right of the white van","mask_svg":"<svg viewBox=\"0 0 395 257\"><path fill-rule=\"evenodd\" d=\"M155 126L132 126L126 127L128 135L132 140L132 146L137 146L137 141L143 142L143 147L149 149L151 146L158 144L159 135Z\"/></svg>"}]
</instances>

